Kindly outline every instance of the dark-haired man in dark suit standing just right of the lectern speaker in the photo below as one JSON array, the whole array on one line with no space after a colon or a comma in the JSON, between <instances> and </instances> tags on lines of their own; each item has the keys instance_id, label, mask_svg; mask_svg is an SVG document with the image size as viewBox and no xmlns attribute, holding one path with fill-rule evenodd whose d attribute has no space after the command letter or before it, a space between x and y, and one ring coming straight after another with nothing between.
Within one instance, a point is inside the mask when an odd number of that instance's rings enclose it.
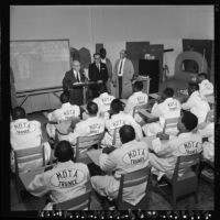
<instances>
[{"instance_id":1,"label":"dark-haired man in dark suit standing just right of the lectern speaker","mask_svg":"<svg viewBox=\"0 0 220 220\"><path fill-rule=\"evenodd\" d=\"M108 70L107 65L101 63L101 57L99 53L94 54L95 62L89 65L89 79L91 81L102 81L106 84L108 81ZM90 98L97 98L99 96L99 85L91 85L89 95Z\"/></svg>"}]
</instances>

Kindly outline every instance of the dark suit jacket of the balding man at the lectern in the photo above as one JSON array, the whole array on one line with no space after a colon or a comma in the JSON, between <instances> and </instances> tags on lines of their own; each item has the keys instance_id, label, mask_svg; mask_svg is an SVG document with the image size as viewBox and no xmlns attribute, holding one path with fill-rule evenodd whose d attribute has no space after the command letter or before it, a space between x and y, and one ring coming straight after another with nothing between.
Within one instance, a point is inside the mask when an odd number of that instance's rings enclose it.
<instances>
[{"instance_id":1,"label":"dark suit jacket of the balding man at the lectern","mask_svg":"<svg viewBox=\"0 0 220 220\"><path fill-rule=\"evenodd\" d=\"M82 70L79 70L79 74L80 74L80 80L85 81L85 76L82 74ZM64 90L72 89L74 82L77 82L77 79L75 77L74 70L70 69L69 72L66 72L65 77L63 79L63 88L64 88Z\"/></svg>"}]
</instances>

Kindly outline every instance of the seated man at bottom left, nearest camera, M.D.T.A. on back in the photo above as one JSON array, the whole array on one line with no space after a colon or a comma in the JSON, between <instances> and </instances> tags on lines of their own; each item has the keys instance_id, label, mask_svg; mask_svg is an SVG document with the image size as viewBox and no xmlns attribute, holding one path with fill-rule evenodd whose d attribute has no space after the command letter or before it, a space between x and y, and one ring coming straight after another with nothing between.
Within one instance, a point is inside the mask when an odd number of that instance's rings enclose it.
<instances>
[{"instance_id":1,"label":"seated man at bottom left, nearest camera, M.D.T.A. on back","mask_svg":"<svg viewBox=\"0 0 220 220\"><path fill-rule=\"evenodd\" d=\"M34 196L50 194L52 202L46 205L45 210L52 210L53 202L62 202L86 193L86 183L90 180L87 165L74 163L74 151L67 141L57 144L54 155L57 164L36 175L28 186Z\"/></svg>"}]
</instances>

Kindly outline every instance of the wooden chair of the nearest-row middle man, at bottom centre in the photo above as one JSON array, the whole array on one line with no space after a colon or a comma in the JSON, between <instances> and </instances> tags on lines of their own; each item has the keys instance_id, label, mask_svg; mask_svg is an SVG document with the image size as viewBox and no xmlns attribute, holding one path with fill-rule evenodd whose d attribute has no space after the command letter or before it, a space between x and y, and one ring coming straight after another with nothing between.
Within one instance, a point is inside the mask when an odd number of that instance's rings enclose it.
<instances>
[{"instance_id":1,"label":"wooden chair of the nearest-row middle man, at bottom centre","mask_svg":"<svg viewBox=\"0 0 220 220\"><path fill-rule=\"evenodd\" d=\"M123 190L124 188L130 188L134 186L139 186L143 183L146 184L145 188L145 196L141 199L141 201L136 206L132 206L131 204L123 200ZM135 170L132 173L128 173L125 175L121 175L120 179L120 187L119 187L119 194L117 198L117 208L119 210L147 210L148 209L148 202L150 202L150 190L151 190L151 167L145 167L140 170Z\"/></svg>"}]
</instances>

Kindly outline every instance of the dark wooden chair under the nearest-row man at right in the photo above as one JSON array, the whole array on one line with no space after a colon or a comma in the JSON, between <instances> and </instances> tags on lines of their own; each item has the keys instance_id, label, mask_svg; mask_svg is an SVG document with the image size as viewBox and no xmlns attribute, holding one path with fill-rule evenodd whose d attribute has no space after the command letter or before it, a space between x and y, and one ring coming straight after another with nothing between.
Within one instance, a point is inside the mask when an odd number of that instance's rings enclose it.
<instances>
[{"instance_id":1,"label":"dark wooden chair under the nearest-row man at right","mask_svg":"<svg viewBox=\"0 0 220 220\"><path fill-rule=\"evenodd\" d=\"M173 209L176 209L177 198L184 195L194 193L195 201L198 202L197 193L200 158L201 153L178 156L173 176L164 176L172 185ZM184 174L179 176L179 172L184 172Z\"/></svg>"}]
</instances>

